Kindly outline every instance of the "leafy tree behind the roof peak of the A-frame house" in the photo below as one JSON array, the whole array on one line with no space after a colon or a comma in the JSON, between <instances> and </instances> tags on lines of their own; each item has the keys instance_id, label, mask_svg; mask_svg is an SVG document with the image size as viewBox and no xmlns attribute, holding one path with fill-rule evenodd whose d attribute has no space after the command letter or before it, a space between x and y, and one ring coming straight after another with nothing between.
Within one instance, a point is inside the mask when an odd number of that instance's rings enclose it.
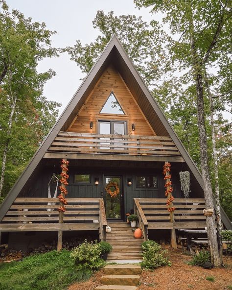
<instances>
[{"instance_id":1,"label":"leafy tree behind the roof peak of the A-frame house","mask_svg":"<svg viewBox=\"0 0 232 290\"><path fill-rule=\"evenodd\" d=\"M163 61L164 58L168 59L164 49L165 38L168 36L158 22L153 21L151 28L141 17L137 18L135 15L117 17L113 11L107 15L103 11L97 11L93 27L98 28L101 33L95 42L82 46L80 40L77 40L74 47L65 49L82 73L90 71L113 34L117 35L147 84L152 84L154 80L161 78L163 73L171 70L170 63Z\"/></svg>"}]
</instances>

